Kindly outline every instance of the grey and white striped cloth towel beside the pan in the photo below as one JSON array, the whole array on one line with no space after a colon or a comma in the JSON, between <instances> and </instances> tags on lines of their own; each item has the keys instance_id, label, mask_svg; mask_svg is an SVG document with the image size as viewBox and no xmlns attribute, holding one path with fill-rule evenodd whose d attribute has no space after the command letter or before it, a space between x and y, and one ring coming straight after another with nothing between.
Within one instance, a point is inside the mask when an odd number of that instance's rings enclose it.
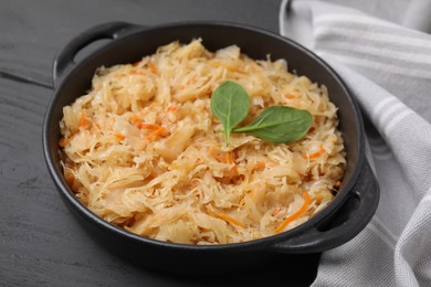
<instances>
[{"instance_id":1,"label":"grey and white striped cloth towel beside the pan","mask_svg":"<svg viewBox=\"0 0 431 287\"><path fill-rule=\"evenodd\" d=\"M313 286L431 286L431 1L284 0L280 29L351 88L381 192L367 227L323 254Z\"/></svg>"}]
</instances>

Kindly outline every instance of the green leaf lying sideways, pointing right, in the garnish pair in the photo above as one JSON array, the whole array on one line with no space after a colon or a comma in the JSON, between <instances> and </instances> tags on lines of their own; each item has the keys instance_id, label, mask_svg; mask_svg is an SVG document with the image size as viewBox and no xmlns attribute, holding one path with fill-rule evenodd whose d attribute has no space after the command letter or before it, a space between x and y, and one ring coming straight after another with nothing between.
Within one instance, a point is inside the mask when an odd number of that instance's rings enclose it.
<instances>
[{"instance_id":1,"label":"green leaf lying sideways, pointing right, in the garnish pair","mask_svg":"<svg viewBox=\"0 0 431 287\"><path fill-rule=\"evenodd\" d=\"M285 106L265 108L248 126L234 128L232 132L249 132L271 142L295 141L304 137L312 126L308 110Z\"/></svg>"}]
</instances>

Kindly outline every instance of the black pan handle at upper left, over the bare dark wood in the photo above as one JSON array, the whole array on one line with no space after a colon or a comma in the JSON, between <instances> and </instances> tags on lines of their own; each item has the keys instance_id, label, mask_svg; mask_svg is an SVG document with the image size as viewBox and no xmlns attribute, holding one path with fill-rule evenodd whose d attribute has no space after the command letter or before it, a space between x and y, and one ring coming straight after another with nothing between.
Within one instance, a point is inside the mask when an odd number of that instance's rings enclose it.
<instances>
[{"instance_id":1,"label":"black pan handle at upper left, over the bare dark wood","mask_svg":"<svg viewBox=\"0 0 431 287\"><path fill-rule=\"evenodd\" d=\"M75 64L74 59L76 54L88 44L103 39L118 39L129 32L141 29L141 25L136 25L127 22L109 22L95 25L81 35L73 39L66 44L54 57L53 65L53 81L54 86L64 73Z\"/></svg>"}]
</instances>

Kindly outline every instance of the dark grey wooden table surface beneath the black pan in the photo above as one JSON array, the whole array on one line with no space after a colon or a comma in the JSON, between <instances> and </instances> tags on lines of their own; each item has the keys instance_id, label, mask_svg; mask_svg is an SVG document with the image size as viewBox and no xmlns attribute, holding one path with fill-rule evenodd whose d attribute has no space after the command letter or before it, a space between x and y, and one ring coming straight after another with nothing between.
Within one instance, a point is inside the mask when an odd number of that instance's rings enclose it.
<instances>
[{"instance_id":1,"label":"dark grey wooden table surface beneath the black pan","mask_svg":"<svg viewBox=\"0 0 431 287\"><path fill-rule=\"evenodd\" d=\"M223 20L278 32L280 0L0 0L0 286L308 286L283 262L207 277L155 273L93 242L62 203L46 171L42 121L55 53L103 22L145 25ZM229 258L228 258L229 259Z\"/></svg>"}]
</instances>

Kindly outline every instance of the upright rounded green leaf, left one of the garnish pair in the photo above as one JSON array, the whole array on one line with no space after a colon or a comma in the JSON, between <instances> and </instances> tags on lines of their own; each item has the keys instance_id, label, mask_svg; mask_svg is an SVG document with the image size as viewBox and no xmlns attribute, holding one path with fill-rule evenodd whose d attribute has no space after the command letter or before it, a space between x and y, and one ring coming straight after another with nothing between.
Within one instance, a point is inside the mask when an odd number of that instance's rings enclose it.
<instances>
[{"instance_id":1,"label":"upright rounded green leaf, left one of the garnish pair","mask_svg":"<svg viewBox=\"0 0 431 287\"><path fill-rule=\"evenodd\" d=\"M249 94L234 82L225 81L212 93L211 111L223 124L228 146L232 129L246 117L249 109Z\"/></svg>"}]
</instances>

